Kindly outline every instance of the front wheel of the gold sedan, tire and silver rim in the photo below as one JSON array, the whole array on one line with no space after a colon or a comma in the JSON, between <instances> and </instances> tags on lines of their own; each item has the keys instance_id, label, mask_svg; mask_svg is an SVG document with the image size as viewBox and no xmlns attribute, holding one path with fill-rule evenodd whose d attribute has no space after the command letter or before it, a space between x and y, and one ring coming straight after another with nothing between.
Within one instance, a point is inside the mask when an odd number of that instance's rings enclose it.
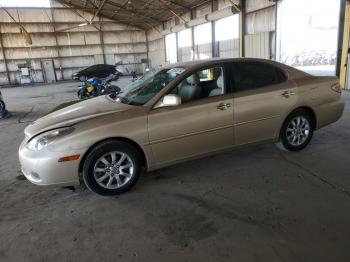
<instances>
[{"instance_id":1,"label":"front wheel of the gold sedan, tire and silver rim","mask_svg":"<svg viewBox=\"0 0 350 262\"><path fill-rule=\"evenodd\" d=\"M117 195L136 184L142 166L142 157L132 145L122 141L106 141L87 155L83 180L87 188L99 195Z\"/></svg>"}]
</instances>

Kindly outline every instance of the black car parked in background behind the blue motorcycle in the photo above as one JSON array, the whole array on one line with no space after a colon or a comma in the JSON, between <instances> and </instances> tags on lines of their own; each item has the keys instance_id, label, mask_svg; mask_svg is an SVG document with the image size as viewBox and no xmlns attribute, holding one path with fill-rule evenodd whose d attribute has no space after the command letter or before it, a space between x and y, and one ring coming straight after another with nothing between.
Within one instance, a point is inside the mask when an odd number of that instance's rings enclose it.
<instances>
[{"instance_id":1,"label":"black car parked in background behind the blue motorcycle","mask_svg":"<svg viewBox=\"0 0 350 262\"><path fill-rule=\"evenodd\" d=\"M83 70L73 73L73 80L79 80L81 82L87 80L91 77L105 78L110 74L115 74L117 72L115 66L113 65L93 65L89 66Z\"/></svg>"}]
</instances>

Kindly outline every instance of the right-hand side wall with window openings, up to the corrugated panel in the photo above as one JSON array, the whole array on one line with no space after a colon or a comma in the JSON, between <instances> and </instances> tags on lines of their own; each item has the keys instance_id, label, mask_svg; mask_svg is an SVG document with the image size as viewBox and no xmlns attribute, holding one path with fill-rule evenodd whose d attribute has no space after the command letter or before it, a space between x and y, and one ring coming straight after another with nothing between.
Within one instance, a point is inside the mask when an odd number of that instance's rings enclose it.
<instances>
[{"instance_id":1,"label":"right-hand side wall with window openings, up to the corrugated panel","mask_svg":"<svg viewBox=\"0 0 350 262\"><path fill-rule=\"evenodd\" d=\"M181 14L183 20L187 21L190 26L189 28L183 27L183 21L174 17L166 21L162 28L151 29L147 31L148 35L152 35L152 43L158 43L157 47L149 51L149 58L151 66L162 66L164 64L173 62L185 62L195 59L205 59L210 57L239 57L240 56L240 45L244 42L244 50L246 57L257 57L274 59L275 58L275 3L268 0L246 0L242 1L244 4L245 22L244 27L244 40L240 41L240 15L233 14L226 18L216 19L208 22L205 17L217 10L224 10L232 6L235 3L239 6L240 1L230 0L217 0L211 1L200 7L195 8L191 12ZM230 20L231 23L237 24L237 28L231 26L226 31L230 31L230 37L225 34L218 34L220 30L220 23L222 20ZM198 25L191 26L191 24ZM209 28L209 25L211 27ZM177 27L181 30L178 31ZM203 28L203 30L201 30ZM226 26L227 29L227 26ZM175 30L175 32L174 32ZM166 47L166 35L177 34L177 41L181 39L181 34L184 31L192 31L192 46L185 47L181 46L181 43L177 42L177 50L167 50ZM196 33L198 31L198 33ZM202 37L199 39L199 36ZM170 49L170 48L168 48ZM174 43L171 46L174 49ZM163 53L162 53L163 52ZM171 57L174 59L168 59L166 54L172 54ZM157 59L162 58L163 60ZM157 61L157 63L153 63Z\"/></svg>"}]
</instances>

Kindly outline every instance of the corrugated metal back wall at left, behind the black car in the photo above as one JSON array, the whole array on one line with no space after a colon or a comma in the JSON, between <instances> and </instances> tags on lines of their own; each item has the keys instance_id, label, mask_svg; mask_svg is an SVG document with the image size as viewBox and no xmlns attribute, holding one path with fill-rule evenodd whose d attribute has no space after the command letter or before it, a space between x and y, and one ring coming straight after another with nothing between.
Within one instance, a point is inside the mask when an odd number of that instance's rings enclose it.
<instances>
[{"instance_id":1,"label":"corrugated metal back wall at left, behind the black car","mask_svg":"<svg viewBox=\"0 0 350 262\"><path fill-rule=\"evenodd\" d=\"M19 84L18 64L27 62L32 65L34 82L44 82L43 62L49 60L53 62L55 80L71 79L73 72L96 63L122 62L129 64L123 68L127 72L141 73L141 60L147 59L144 30L96 17L93 25L101 31L92 25L61 31L84 20L72 10L55 7L62 5L51 1L51 8L7 9L31 35L30 46L25 44L19 26L0 10L0 85ZM80 14L91 17L83 11Z\"/></svg>"}]
</instances>

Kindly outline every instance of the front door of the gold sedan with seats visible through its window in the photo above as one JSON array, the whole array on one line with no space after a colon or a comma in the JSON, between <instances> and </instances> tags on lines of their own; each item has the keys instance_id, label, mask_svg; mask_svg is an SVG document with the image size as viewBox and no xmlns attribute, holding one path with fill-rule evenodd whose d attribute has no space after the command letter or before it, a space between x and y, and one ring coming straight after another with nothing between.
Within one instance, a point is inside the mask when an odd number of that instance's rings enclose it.
<instances>
[{"instance_id":1,"label":"front door of the gold sedan with seats visible through its window","mask_svg":"<svg viewBox=\"0 0 350 262\"><path fill-rule=\"evenodd\" d=\"M221 78L213 76L209 81L192 83L196 90L196 84L201 90L205 89L201 97L189 99L186 96L186 89L190 86L183 83L189 81L188 77L171 91L182 97L181 105L151 110L148 118L149 141L158 165L233 146L233 95L226 92L224 68L215 67L215 70L217 68L221 70ZM205 70L208 73L214 68ZM205 70L194 74L201 73L200 77L205 80Z\"/></svg>"}]
</instances>

